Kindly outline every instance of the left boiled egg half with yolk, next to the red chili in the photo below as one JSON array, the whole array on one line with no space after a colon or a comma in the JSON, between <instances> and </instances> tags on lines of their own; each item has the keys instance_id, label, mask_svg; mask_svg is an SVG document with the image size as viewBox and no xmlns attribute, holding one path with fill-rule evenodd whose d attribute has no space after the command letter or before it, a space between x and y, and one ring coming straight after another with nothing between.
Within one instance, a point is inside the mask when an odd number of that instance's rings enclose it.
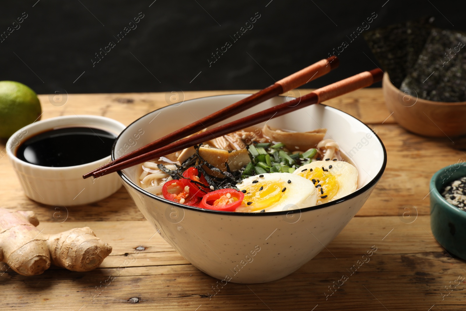
<instances>
[{"instance_id":1,"label":"left boiled egg half with yolk, next to the red chili","mask_svg":"<svg viewBox=\"0 0 466 311\"><path fill-rule=\"evenodd\" d=\"M311 180L291 173L264 173L245 178L236 187L244 200L236 212L278 212L315 206L317 189Z\"/></svg>"}]
</instances>

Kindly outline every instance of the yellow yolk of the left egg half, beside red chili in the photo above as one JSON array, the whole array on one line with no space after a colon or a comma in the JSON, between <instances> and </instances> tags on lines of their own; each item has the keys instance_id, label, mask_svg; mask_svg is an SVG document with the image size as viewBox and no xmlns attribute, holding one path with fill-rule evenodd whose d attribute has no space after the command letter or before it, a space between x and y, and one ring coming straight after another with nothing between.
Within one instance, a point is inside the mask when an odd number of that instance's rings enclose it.
<instances>
[{"instance_id":1,"label":"yellow yolk of the left egg half, beside red chili","mask_svg":"<svg viewBox=\"0 0 466 311\"><path fill-rule=\"evenodd\" d=\"M270 207L281 200L281 197L286 194L286 191L282 191L285 187L286 183L278 180L259 180L259 182L243 188L246 190L243 203L250 211ZM252 203L248 205L248 202Z\"/></svg>"}]
</instances>

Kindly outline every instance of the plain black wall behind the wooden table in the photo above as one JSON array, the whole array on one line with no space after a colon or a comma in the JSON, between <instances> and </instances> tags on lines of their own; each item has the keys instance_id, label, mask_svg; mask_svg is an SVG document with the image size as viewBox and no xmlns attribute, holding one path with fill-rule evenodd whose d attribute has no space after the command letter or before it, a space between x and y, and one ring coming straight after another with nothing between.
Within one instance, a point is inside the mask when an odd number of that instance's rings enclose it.
<instances>
[{"instance_id":1,"label":"plain black wall behind the wooden table","mask_svg":"<svg viewBox=\"0 0 466 311\"><path fill-rule=\"evenodd\" d=\"M261 89L347 41L339 69L304 86L315 88L379 66L362 35L346 37L373 12L370 29L432 15L440 28L466 30L466 1L152 1L2 1L0 33L27 18L0 42L0 80L39 94ZM118 42L139 12L144 18ZM256 12L254 28L234 42ZM110 41L116 46L93 67ZM226 41L233 46L209 67Z\"/></svg>"}]
</instances>

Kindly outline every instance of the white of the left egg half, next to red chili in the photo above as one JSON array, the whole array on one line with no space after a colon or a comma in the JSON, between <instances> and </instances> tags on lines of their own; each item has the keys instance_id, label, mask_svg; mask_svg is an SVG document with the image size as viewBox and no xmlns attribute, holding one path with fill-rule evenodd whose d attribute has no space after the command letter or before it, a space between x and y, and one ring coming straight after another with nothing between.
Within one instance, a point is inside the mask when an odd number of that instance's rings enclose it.
<instances>
[{"instance_id":1,"label":"white of the left egg half, next to red chili","mask_svg":"<svg viewBox=\"0 0 466 311\"><path fill-rule=\"evenodd\" d=\"M260 175L263 175L263 177L259 177ZM268 207L263 208L266 212L278 212L282 210L305 208L315 205L317 191L312 181L291 173L264 173L260 175L248 177L241 183L236 184L236 187L238 187L240 190L244 190L247 188L247 186L253 184L254 180L258 181L257 185L259 187L260 182L262 181L276 181L282 183L283 187L286 187L286 190L283 192L280 200L274 202ZM288 180L291 182L288 183ZM254 207L254 203L251 204L251 207ZM239 207L236 211L249 211L247 202L243 202L241 207ZM254 212L260 212L260 210Z\"/></svg>"}]
</instances>

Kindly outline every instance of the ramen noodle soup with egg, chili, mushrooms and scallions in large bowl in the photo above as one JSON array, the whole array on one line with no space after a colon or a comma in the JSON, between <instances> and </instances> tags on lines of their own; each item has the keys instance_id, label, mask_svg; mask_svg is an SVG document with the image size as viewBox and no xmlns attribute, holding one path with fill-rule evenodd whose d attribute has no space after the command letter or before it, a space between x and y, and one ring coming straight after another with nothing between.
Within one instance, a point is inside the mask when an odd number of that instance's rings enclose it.
<instances>
[{"instance_id":1,"label":"ramen noodle soup with egg, chili, mushrooms and scallions in large bowl","mask_svg":"<svg viewBox=\"0 0 466 311\"><path fill-rule=\"evenodd\" d=\"M357 187L356 167L325 134L247 128L144 162L136 177L145 191L193 207L243 213L311 207Z\"/></svg>"}]
</instances>

